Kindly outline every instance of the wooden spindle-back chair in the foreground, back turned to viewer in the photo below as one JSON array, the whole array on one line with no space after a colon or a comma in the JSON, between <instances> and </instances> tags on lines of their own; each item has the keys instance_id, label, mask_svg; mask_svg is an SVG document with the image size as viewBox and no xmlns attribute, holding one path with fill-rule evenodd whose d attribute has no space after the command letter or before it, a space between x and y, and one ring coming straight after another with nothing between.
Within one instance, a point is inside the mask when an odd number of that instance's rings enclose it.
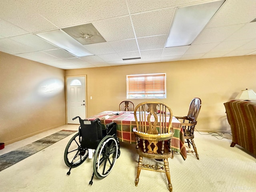
<instances>
[{"instance_id":1,"label":"wooden spindle-back chair in the foreground, back turned to viewer","mask_svg":"<svg viewBox=\"0 0 256 192\"><path fill-rule=\"evenodd\" d=\"M133 132L136 136L136 152L139 154L135 186L138 185L141 169L155 170L166 173L168 188L172 192L168 163L168 158L172 156L172 110L162 102L142 102L134 109L134 118L136 127ZM142 164L143 157L157 160L158 164ZM161 162L163 166L159 166Z\"/></svg>"}]
</instances>

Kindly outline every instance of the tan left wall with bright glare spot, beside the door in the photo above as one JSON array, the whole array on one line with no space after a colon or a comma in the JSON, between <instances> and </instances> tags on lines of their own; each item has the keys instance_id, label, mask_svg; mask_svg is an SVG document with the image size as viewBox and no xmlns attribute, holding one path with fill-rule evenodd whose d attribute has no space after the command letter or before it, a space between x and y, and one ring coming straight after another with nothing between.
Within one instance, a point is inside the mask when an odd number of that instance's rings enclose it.
<instances>
[{"instance_id":1,"label":"tan left wall with bright glare spot, beside the door","mask_svg":"<svg viewBox=\"0 0 256 192\"><path fill-rule=\"evenodd\" d=\"M65 70L0 52L0 142L66 124L64 80ZM63 88L44 93L51 82Z\"/></svg>"}]
</instances>

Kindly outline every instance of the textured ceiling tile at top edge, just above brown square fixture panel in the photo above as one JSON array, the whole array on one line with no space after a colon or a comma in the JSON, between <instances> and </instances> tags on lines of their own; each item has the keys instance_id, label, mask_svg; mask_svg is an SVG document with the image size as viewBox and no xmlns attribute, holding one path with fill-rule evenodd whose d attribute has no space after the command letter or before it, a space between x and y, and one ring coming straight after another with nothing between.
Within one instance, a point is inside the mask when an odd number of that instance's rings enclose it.
<instances>
[{"instance_id":1,"label":"textured ceiling tile at top edge, just above brown square fixture panel","mask_svg":"<svg viewBox=\"0 0 256 192\"><path fill-rule=\"evenodd\" d=\"M61 5L61 6L60 6ZM58 27L84 24L86 22L128 14L125 0L102 1L38 1L37 10ZM65 18L65 19L63 19Z\"/></svg>"}]
</instances>

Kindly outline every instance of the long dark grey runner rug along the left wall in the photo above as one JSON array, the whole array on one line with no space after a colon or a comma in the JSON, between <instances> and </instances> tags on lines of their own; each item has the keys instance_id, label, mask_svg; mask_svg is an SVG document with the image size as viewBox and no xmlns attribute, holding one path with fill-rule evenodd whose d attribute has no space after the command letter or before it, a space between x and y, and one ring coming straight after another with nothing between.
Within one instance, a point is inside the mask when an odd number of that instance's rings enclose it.
<instances>
[{"instance_id":1,"label":"long dark grey runner rug along the left wall","mask_svg":"<svg viewBox=\"0 0 256 192\"><path fill-rule=\"evenodd\" d=\"M61 130L45 138L32 142L26 146L20 147L14 151L8 152L0 156L0 171L18 163L19 161L29 157L32 154L64 139L73 134L73 130Z\"/></svg>"}]
</instances>

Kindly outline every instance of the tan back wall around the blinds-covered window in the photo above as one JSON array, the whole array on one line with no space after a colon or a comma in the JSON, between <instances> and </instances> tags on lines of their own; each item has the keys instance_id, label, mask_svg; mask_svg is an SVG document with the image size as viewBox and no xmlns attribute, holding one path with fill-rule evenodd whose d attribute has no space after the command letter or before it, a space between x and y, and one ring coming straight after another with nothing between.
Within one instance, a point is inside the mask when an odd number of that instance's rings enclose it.
<instances>
[{"instance_id":1,"label":"tan back wall around the blinds-covered window","mask_svg":"<svg viewBox=\"0 0 256 192\"><path fill-rule=\"evenodd\" d=\"M256 55L66 70L66 76L87 76L87 116L118 110L126 100L126 75L166 73L168 104L174 115L186 116L194 97L202 100L197 129L230 132L223 103L242 89L256 91ZM92 100L90 100L92 96ZM144 99L132 99L135 105Z\"/></svg>"}]
</instances>

